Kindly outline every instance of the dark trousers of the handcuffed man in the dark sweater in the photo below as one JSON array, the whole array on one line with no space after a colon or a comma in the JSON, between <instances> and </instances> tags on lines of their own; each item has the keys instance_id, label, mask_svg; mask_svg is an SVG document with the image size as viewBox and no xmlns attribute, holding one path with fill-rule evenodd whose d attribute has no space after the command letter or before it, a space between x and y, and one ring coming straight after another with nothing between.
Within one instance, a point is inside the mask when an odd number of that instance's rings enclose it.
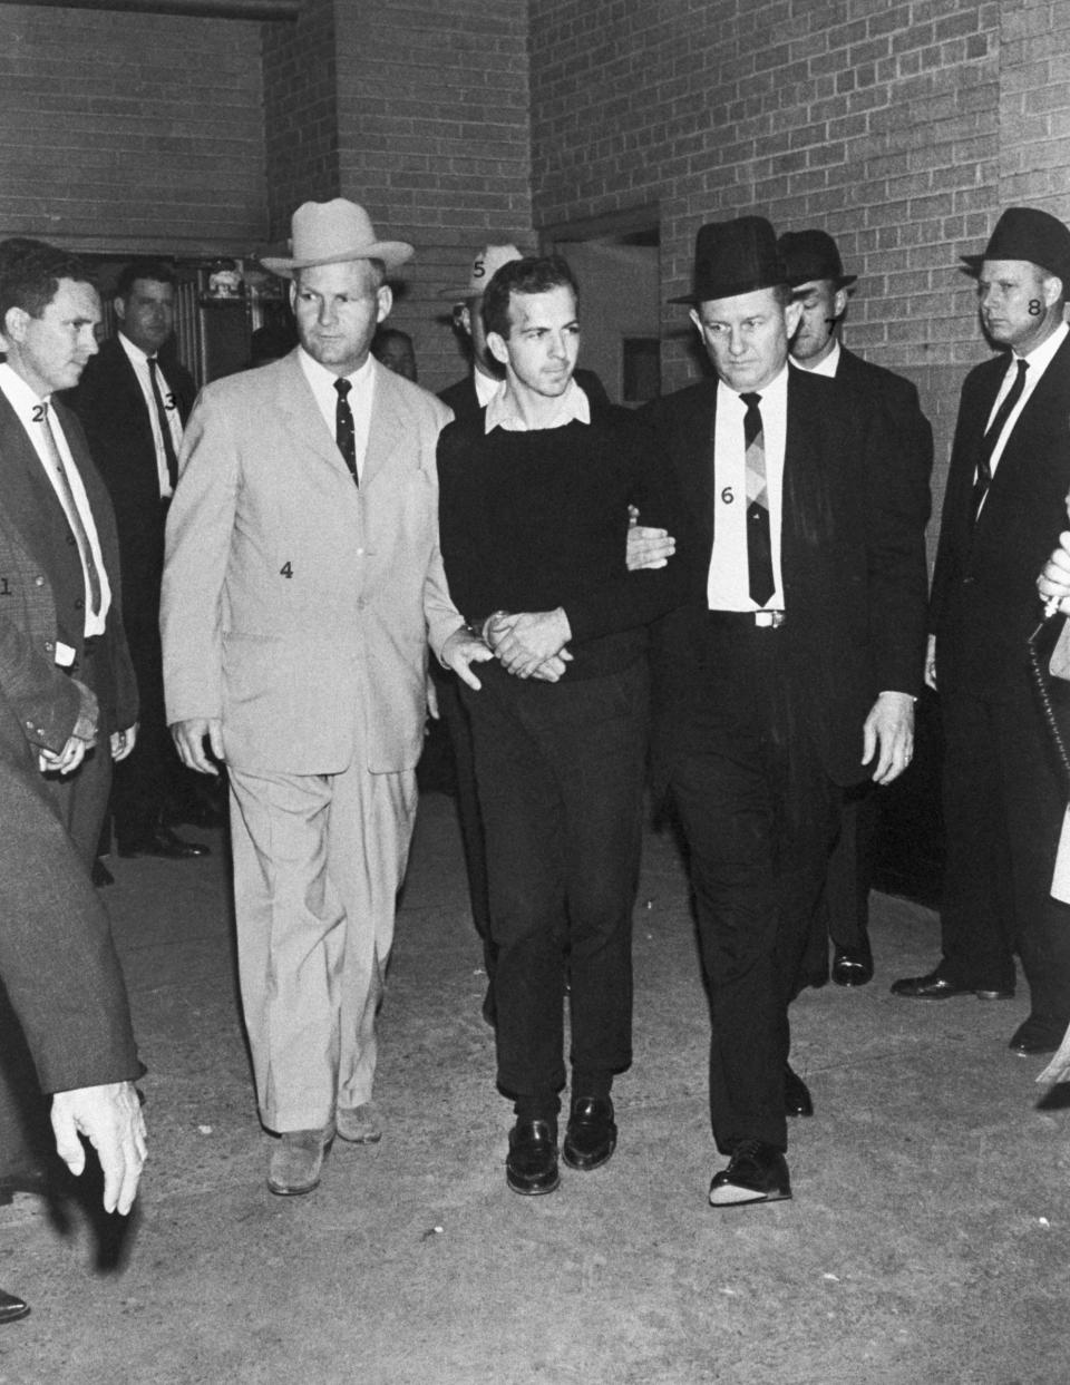
<instances>
[{"instance_id":1,"label":"dark trousers of the handcuffed man in the dark sweater","mask_svg":"<svg viewBox=\"0 0 1070 1385\"><path fill-rule=\"evenodd\" d=\"M480 665L480 677L463 697L498 947L498 1084L552 1115L565 1082L565 964L574 1079L608 1090L632 1061L647 668L550 684Z\"/></svg>"}]
</instances>

